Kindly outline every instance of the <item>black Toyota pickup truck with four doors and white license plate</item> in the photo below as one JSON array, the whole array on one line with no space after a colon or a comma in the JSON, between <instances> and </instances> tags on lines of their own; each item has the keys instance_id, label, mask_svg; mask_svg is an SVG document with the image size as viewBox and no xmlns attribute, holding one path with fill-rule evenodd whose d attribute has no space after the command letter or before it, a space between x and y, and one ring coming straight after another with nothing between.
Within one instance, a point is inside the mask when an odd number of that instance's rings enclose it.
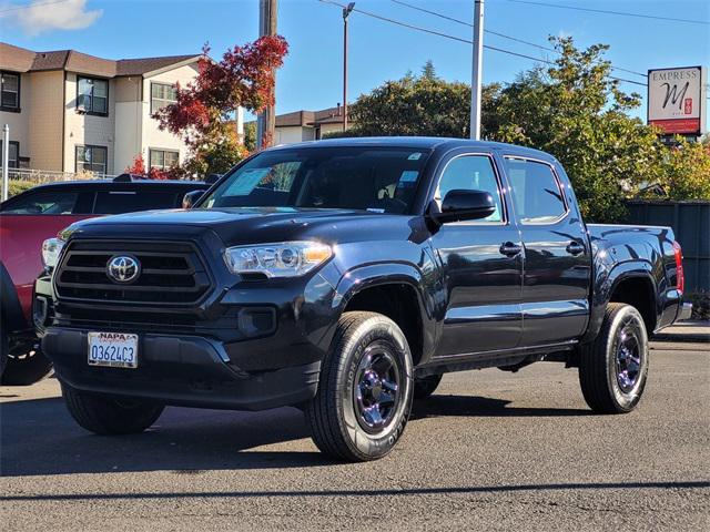
<instances>
[{"instance_id":1,"label":"black Toyota pickup truck with four doors and white license plate","mask_svg":"<svg viewBox=\"0 0 710 532\"><path fill-rule=\"evenodd\" d=\"M372 460L443 374L542 360L628 412L648 335L689 313L672 231L586 225L535 150L282 146L185 202L72 226L38 279L42 348L90 431L140 432L165 405L296 406L323 452Z\"/></svg>"}]
</instances>

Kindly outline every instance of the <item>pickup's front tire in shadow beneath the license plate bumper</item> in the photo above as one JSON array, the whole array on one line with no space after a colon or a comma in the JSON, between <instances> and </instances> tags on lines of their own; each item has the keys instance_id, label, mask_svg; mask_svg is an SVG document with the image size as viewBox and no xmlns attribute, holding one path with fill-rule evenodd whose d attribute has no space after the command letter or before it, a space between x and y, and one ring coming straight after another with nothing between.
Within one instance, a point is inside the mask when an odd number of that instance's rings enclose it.
<instances>
[{"instance_id":1,"label":"pickup's front tire in shadow beneath the license plate bumper","mask_svg":"<svg viewBox=\"0 0 710 532\"><path fill-rule=\"evenodd\" d=\"M101 436L135 434L153 424L162 405L120 401L79 391L62 382L62 396L72 418L84 429Z\"/></svg>"}]
</instances>

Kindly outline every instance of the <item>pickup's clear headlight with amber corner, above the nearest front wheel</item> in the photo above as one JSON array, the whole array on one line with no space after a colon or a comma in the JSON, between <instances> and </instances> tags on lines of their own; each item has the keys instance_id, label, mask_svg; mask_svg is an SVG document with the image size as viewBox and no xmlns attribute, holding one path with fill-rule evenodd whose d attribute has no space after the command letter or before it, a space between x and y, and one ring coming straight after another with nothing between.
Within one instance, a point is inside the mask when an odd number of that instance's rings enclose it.
<instances>
[{"instance_id":1,"label":"pickup's clear headlight with amber corner, above the nearest front wheel","mask_svg":"<svg viewBox=\"0 0 710 532\"><path fill-rule=\"evenodd\" d=\"M329 246L317 242L281 242L227 247L224 260L234 274L297 277L323 264L332 255Z\"/></svg>"}]
</instances>

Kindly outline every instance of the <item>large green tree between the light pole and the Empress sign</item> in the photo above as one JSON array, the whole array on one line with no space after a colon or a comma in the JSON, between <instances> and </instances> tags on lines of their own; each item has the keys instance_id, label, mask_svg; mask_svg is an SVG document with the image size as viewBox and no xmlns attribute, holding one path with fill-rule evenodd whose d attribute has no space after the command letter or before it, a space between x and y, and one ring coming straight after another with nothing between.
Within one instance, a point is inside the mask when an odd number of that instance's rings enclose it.
<instances>
[{"instance_id":1,"label":"large green tree between the light pole and the Empress sign","mask_svg":"<svg viewBox=\"0 0 710 532\"><path fill-rule=\"evenodd\" d=\"M555 155L586 219L617 221L625 196L658 182L665 149L653 127L629 116L641 96L611 79L607 45L578 50L571 38L550 41L560 53L555 65L534 68L500 91L493 136Z\"/></svg>"}]
</instances>

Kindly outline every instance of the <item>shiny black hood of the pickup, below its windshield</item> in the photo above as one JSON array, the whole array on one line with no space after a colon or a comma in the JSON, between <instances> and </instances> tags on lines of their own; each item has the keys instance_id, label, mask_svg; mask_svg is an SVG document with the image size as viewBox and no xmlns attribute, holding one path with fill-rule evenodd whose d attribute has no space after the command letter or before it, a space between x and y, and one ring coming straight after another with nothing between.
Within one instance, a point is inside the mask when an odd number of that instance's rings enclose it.
<instances>
[{"instance_id":1,"label":"shiny black hood of the pickup, below its windshield","mask_svg":"<svg viewBox=\"0 0 710 532\"><path fill-rule=\"evenodd\" d=\"M212 209L145 211L105 216L71 226L72 234L91 237L194 235L213 232L227 246L317 238L337 243L379 239L390 231L406 238L409 216L365 211L293 207L230 207Z\"/></svg>"}]
</instances>

